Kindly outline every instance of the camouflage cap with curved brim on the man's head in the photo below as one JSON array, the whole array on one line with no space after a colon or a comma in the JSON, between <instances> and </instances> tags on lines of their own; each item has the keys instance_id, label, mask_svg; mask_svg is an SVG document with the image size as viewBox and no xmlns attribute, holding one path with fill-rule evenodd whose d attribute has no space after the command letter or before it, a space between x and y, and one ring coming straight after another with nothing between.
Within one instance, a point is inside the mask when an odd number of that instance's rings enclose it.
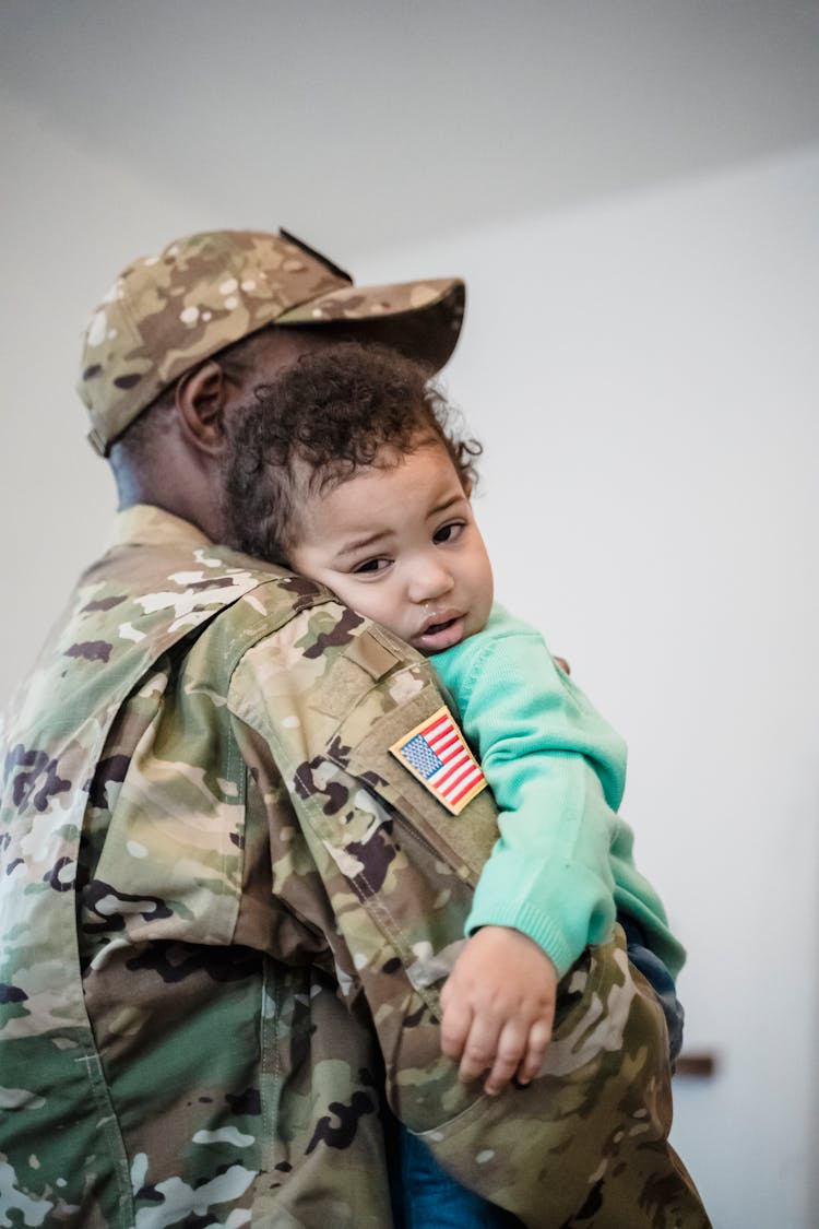
<instances>
[{"instance_id":1,"label":"camouflage cap with curved brim on the man's head","mask_svg":"<svg viewBox=\"0 0 819 1229\"><path fill-rule=\"evenodd\" d=\"M458 340L464 297L457 278L355 286L349 273L285 230L176 240L124 269L88 321L77 385L91 414L88 438L106 456L163 388L268 324L408 316L419 355L440 369Z\"/></svg>"}]
</instances>

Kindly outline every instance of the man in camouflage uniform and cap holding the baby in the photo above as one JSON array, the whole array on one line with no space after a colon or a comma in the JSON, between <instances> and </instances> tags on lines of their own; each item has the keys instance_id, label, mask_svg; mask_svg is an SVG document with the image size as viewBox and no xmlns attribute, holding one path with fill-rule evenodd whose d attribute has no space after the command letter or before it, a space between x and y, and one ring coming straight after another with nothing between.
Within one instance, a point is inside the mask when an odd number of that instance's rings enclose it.
<instances>
[{"instance_id":1,"label":"man in camouflage uniform and cap holding the baby","mask_svg":"<svg viewBox=\"0 0 819 1229\"><path fill-rule=\"evenodd\" d=\"M17 1223L383 1229L394 1113L527 1225L707 1225L667 1143L662 1013L620 935L562 984L532 1085L486 1097L442 1057L491 799L456 819L390 753L442 705L417 654L217 544L236 407L339 336L440 367L463 297L357 289L286 232L217 232L133 264L91 320L80 391L114 544L2 748Z\"/></svg>"}]
</instances>

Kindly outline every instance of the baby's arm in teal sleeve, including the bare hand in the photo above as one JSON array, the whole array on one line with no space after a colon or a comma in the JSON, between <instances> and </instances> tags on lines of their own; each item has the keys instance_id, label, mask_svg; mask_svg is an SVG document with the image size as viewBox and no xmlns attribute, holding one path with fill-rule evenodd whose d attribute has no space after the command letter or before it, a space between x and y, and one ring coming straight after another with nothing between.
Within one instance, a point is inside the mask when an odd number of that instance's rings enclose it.
<instances>
[{"instance_id":1,"label":"baby's arm in teal sleeve, including the bare hand","mask_svg":"<svg viewBox=\"0 0 819 1229\"><path fill-rule=\"evenodd\" d=\"M433 659L501 810L473 932L442 992L442 1047L487 1091L538 1070L559 977L614 923L609 842L625 777L618 735L532 628L494 612ZM456 822L464 822L468 811Z\"/></svg>"}]
</instances>

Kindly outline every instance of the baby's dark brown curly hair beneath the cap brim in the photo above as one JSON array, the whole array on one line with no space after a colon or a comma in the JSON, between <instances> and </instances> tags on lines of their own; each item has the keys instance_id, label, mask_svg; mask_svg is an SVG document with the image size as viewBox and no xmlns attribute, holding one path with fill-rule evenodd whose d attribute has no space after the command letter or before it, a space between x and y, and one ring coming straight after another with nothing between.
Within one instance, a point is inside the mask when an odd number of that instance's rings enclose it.
<instances>
[{"instance_id":1,"label":"baby's dark brown curly hair beneath the cap brim","mask_svg":"<svg viewBox=\"0 0 819 1229\"><path fill-rule=\"evenodd\" d=\"M389 466L389 454L398 463L431 442L443 445L464 490L472 490L481 446L453 430L456 412L431 377L394 350L341 342L303 354L258 387L227 422L228 544L286 565L307 498L363 466Z\"/></svg>"}]
</instances>

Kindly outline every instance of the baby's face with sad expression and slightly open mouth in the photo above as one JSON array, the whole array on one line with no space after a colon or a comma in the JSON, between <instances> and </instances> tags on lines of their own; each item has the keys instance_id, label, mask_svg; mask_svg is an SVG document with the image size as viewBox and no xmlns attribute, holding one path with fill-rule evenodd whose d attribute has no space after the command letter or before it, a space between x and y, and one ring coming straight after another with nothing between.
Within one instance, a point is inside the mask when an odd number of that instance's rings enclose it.
<instances>
[{"instance_id":1,"label":"baby's face with sad expression and slightly open mouth","mask_svg":"<svg viewBox=\"0 0 819 1229\"><path fill-rule=\"evenodd\" d=\"M300 520L293 569L421 653L448 649L486 623L492 569L443 445L359 469L311 497Z\"/></svg>"}]
</instances>

